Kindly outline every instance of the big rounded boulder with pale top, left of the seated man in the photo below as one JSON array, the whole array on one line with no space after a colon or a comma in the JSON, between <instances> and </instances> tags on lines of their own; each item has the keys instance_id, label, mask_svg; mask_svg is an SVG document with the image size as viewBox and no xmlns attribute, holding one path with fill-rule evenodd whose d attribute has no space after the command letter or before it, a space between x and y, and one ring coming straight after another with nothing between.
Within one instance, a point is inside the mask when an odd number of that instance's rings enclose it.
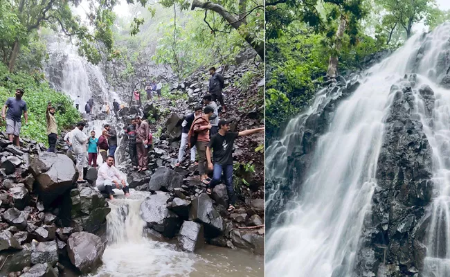
<instances>
[{"instance_id":1,"label":"big rounded boulder with pale top, left of the seated man","mask_svg":"<svg viewBox=\"0 0 450 277\"><path fill-rule=\"evenodd\" d=\"M78 172L69 157L64 154L42 152L30 163L30 171L39 184L39 195L44 205L70 189L78 178Z\"/></svg>"}]
</instances>

